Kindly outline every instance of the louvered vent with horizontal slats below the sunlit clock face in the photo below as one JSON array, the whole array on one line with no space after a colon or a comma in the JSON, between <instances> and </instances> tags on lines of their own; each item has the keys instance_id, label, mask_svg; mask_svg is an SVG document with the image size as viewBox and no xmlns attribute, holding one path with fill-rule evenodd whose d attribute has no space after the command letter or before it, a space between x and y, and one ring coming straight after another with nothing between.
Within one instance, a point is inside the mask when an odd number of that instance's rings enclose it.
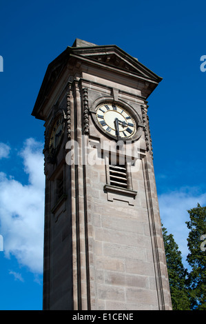
<instances>
[{"instance_id":1,"label":"louvered vent with horizontal slats below the sunlit clock face","mask_svg":"<svg viewBox=\"0 0 206 324\"><path fill-rule=\"evenodd\" d=\"M110 165L110 185L127 188L127 169L125 165Z\"/></svg>"}]
</instances>

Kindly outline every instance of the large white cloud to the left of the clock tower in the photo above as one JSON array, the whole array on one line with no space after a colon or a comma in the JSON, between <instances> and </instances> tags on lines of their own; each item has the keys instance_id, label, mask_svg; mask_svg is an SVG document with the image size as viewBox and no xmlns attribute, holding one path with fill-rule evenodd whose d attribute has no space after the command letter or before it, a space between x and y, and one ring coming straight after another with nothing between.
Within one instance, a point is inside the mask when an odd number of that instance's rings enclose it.
<instances>
[{"instance_id":1,"label":"large white cloud to the left of the clock tower","mask_svg":"<svg viewBox=\"0 0 206 324\"><path fill-rule=\"evenodd\" d=\"M14 255L34 273L43 271L43 145L25 141L21 157L28 185L0 172L0 230L6 257Z\"/></svg>"}]
</instances>

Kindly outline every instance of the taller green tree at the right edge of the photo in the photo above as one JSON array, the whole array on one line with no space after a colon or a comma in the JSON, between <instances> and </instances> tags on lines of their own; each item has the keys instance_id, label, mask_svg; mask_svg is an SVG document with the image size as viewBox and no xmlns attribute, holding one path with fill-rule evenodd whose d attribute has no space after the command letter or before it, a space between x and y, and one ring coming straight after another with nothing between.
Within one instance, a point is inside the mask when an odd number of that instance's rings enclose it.
<instances>
[{"instance_id":1,"label":"taller green tree at the right edge of the photo","mask_svg":"<svg viewBox=\"0 0 206 324\"><path fill-rule=\"evenodd\" d=\"M206 207L198 204L188 213L187 262L192 268L188 278L190 307L192 310L206 310Z\"/></svg>"}]
</instances>

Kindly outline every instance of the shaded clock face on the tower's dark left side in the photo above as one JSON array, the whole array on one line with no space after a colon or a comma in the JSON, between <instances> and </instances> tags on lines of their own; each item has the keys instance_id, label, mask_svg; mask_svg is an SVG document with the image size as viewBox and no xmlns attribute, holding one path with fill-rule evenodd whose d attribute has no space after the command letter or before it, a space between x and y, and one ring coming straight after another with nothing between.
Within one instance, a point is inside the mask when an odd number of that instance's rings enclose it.
<instances>
[{"instance_id":1,"label":"shaded clock face on the tower's dark left side","mask_svg":"<svg viewBox=\"0 0 206 324\"><path fill-rule=\"evenodd\" d=\"M59 147L61 138L63 136L63 116L59 117L52 128L50 135L49 151L50 156L56 154L56 149Z\"/></svg>"}]
</instances>

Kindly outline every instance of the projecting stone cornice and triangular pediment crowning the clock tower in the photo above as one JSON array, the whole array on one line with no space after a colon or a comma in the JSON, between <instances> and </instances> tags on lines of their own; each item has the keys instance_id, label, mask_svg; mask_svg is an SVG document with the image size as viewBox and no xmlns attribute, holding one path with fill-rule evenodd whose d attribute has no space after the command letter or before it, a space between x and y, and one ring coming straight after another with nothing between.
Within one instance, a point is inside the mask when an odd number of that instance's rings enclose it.
<instances>
[{"instance_id":1,"label":"projecting stone cornice and triangular pediment crowning the clock tower","mask_svg":"<svg viewBox=\"0 0 206 324\"><path fill-rule=\"evenodd\" d=\"M138 59L130 56L116 45L95 45L76 39L72 47L68 46L59 57L56 57L48 65L45 77L39 91L37 101L34 105L32 115L41 119L39 110L43 103L47 101L50 91L56 84L68 63L75 64L74 61L85 61L87 64L101 65L101 68L113 70L123 74L136 77L145 82L146 86L151 85L148 95L156 88L156 85L162 80L154 72L145 67ZM74 61L73 61L74 60Z\"/></svg>"}]
</instances>

